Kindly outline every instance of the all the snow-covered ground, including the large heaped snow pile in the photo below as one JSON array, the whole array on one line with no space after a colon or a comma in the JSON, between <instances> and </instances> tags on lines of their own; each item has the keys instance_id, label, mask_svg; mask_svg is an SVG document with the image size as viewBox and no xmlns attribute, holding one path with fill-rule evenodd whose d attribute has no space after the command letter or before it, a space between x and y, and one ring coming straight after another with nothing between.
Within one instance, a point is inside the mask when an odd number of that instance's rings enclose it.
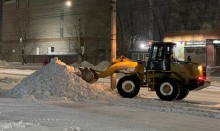
<instances>
[{"instance_id":1,"label":"all the snow-covered ground, including the large heaped snow pile","mask_svg":"<svg viewBox=\"0 0 220 131\"><path fill-rule=\"evenodd\" d=\"M220 87L182 101L161 101L146 88L124 99L108 90L109 79L90 85L74 71L59 61L38 70L0 68L0 131L220 130Z\"/></svg>"}]
</instances>

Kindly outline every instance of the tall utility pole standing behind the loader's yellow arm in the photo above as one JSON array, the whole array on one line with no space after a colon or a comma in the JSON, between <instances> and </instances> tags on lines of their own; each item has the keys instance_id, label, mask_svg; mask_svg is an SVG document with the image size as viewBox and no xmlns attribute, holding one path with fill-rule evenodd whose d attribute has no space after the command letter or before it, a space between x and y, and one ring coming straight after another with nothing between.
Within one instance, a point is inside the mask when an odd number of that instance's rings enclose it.
<instances>
[{"instance_id":1,"label":"tall utility pole standing behind the loader's yellow arm","mask_svg":"<svg viewBox=\"0 0 220 131\"><path fill-rule=\"evenodd\" d=\"M112 0L111 16L111 61L116 59L116 0ZM111 89L116 88L116 74L111 75Z\"/></svg>"}]
</instances>

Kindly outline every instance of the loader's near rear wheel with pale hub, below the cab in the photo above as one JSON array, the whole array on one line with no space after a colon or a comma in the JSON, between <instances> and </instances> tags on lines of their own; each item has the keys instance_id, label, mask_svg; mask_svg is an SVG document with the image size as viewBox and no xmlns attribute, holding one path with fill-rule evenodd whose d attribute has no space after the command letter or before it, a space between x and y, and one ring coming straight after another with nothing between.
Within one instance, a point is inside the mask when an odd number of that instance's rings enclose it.
<instances>
[{"instance_id":1,"label":"loader's near rear wheel with pale hub, below the cab","mask_svg":"<svg viewBox=\"0 0 220 131\"><path fill-rule=\"evenodd\" d=\"M172 101L179 97L180 89L174 80L164 80L156 85L156 94L161 100Z\"/></svg>"}]
</instances>

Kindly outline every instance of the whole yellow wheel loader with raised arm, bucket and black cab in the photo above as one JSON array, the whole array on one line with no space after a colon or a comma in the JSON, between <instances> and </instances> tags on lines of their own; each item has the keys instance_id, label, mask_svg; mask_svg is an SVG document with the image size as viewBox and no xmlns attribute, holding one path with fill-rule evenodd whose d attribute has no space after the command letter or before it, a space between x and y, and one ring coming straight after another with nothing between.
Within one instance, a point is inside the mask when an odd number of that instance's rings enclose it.
<instances>
[{"instance_id":1,"label":"whole yellow wheel loader with raised arm, bucket and black cab","mask_svg":"<svg viewBox=\"0 0 220 131\"><path fill-rule=\"evenodd\" d=\"M161 100L184 99L189 91L208 87L210 81L201 64L173 59L174 45L171 42L153 42L146 62L135 62L121 56L105 71L91 68L81 70L84 73L82 78L94 83L98 78L120 72L125 74L117 83L118 93L122 97L133 98L139 93L140 87L147 87L149 91L156 91ZM124 71L128 68L134 68L134 71Z\"/></svg>"}]
</instances>

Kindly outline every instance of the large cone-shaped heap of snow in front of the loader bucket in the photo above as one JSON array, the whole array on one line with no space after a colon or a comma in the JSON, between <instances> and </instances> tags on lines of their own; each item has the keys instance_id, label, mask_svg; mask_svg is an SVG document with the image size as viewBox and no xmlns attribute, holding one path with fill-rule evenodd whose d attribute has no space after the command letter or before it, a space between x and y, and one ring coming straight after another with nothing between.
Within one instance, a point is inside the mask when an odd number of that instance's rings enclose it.
<instances>
[{"instance_id":1,"label":"large cone-shaped heap of snow in front of the loader bucket","mask_svg":"<svg viewBox=\"0 0 220 131\"><path fill-rule=\"evenodd\" d=\"M74 67L54 58L51 63L23 79L5 95L19 98L34 96L44 100L66 98L77 102L112 97L111 92L98 84L86 83L76 74L77 70Z\"/></svg>"}]
</instances>

